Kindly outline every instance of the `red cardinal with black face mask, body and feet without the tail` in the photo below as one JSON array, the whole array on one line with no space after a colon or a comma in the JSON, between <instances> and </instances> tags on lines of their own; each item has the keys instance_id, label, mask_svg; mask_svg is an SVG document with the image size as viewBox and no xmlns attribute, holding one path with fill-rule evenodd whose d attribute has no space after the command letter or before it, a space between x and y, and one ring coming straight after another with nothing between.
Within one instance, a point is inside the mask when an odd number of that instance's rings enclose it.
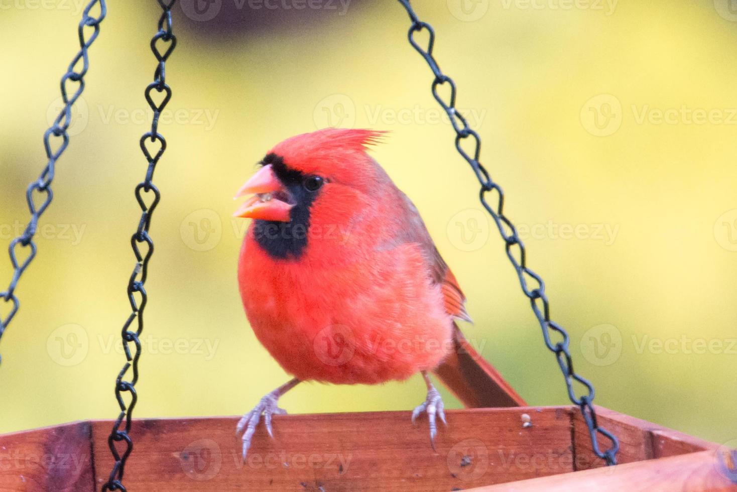
<instances>
[{"instance_id":1,"label":"red cardinal with black face mask, body and feet without the tail","mask_svg":"<svg viewBox=\"0 0 737 492\"><path fill-rule=\"evenodd\" d=\"M453 273L412 202L366 153L382 133L329 128L288 138L240 189L234 214L254 219L238 281L259 341L294 376L237 426L245 458L261 416L301 381L377 384L422 373L415 408L436 435L443 401L430 382L454 350L454 319L470 321ZM273 436L273 435L272 435Z\"/></svg>"}]
</instances>

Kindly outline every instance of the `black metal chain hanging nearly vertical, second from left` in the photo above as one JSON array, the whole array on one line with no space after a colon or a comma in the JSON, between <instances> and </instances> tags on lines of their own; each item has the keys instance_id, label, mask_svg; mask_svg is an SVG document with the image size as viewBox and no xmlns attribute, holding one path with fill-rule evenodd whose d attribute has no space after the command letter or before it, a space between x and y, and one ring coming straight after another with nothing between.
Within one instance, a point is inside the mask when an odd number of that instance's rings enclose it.
<instances>
[{"instance_id":1,"label":"black metal chain hanging nearly vertical, second from left","mask_svg":"<svg viewBox=\"0 0 737 492\"><path fill-rule=\"evenodd\" d=\"M130 280L128 281L128 300L130 301L132 312L122 328L123 347L125 348L127 362L115 380L115 397L120 406L120 414L113 424L110 437L108 437L108 446L115 459L115 464L110 472L108 482L102 486L102 491L126 490L122 481L125 472L125 463L130 456L130 452L133 451L133 440L130 438L130 425L133 418L133 408L136 407L136 401L138 399L136 382L139 379L138 363L141 356L141 342L139 337L143 331L143 313L148 301L144 284L148 276L148 262L153 255L153 239L149 235L149 228L153 211L161 199L161 193L153 184L153 172L156 170L156 164L158 164L161 155L167 150L167 141L158 133L158 118L172 97L172 89L166 82L166 62L177 45L177 38L172 32L171 12L176 0L170 0L168 2L163 0L157 1L163 12L161 13L161 18L158 20L158 32L151 39L151 51L156 56L158 65L153 74L153 82L144 91L146 101L151 107L151 110L153 110L153 121L151 123L151 130L144 133L141 137L141 150L148 161L148 169L146 177L142 183L136 186L135 190L136 200L141 207L142 215L136 232L130 238L130 245L133 247L133 253L136 255L136 267L133 268L133 274L130 275ZM163 53L157 44L161 45L161 49L164 50ZM153 91L159 94L158 99L160 99L160 102L153 100ZM149 146L155 147L157 143L158 150L156 152L149 149ZM144 251L142 251L142 248ZM140 298L140 302L136 300L137 297ZM137 328L135 331L132 331L130 326L136 319L138 320ZM133 344L135 350L131 351L130 344ZM126 381L123 378L128 372L128 369L131 368L133 370L133 377L130 381ZM123 399L123 393L130 393L130 403L128 405L126 405ZM125 426L121 429L124 419ZM116 443L119 442L125 443L125 449L122 452L116 448Z\"/></svg>"}]
</instances>

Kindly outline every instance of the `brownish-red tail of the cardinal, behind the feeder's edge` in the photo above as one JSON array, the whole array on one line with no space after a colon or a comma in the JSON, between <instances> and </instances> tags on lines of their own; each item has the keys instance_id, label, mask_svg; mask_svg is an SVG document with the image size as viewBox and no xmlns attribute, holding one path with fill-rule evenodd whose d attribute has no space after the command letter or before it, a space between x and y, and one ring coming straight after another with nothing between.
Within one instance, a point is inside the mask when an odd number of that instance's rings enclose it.
<instances>
[{"instance_id":1,"label":"brownish-red tail of the cardinal, behind the feeder's edge","mask_svg":"<svg viewBox=\"0 0 737 492\"><path fill-rule=\"evenodd\" d=\"M525 407L525 401L483 359L453 323L455 350L435 369L443 384L469 408Z\"/></svg>"}]
</instances>

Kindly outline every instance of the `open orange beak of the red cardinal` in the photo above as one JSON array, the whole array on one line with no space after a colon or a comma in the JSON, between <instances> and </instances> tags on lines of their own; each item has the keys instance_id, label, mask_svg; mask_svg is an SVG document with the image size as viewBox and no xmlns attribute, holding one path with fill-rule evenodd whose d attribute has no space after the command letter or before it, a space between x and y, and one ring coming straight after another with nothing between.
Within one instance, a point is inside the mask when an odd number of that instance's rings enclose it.
<instances>
[{"instance_id":1,"label":"open orange beak of the red cardinal","mask_svg":"<svg viewBox=\"0 0 737 492\"><path fill-rule=\"evenodd\" d=\"M251 176L251 179L238 190L236 198L247 194L253 194L245 200L245 203L233 214L233 217L244 217L246 219L275 220L277 222L289 222L290 210L293 205L279 200L286 198L284 185L276 178L271 169L271 164L263 166Z\"/></svg>"}]
</instances>

